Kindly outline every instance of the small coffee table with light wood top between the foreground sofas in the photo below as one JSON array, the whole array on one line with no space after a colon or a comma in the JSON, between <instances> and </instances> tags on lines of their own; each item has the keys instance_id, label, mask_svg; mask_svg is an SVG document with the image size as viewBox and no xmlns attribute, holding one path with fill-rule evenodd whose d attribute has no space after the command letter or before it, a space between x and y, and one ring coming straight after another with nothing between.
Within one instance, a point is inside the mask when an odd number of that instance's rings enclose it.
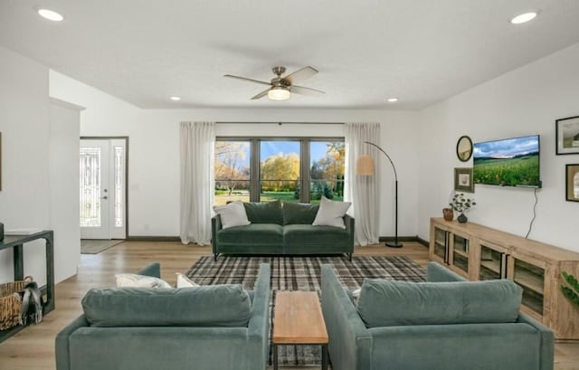
<instances>
[{"instance_id":1,"label":"small coffee table with light wood top between the foreground sofas","mask_svg":"<svg viewBox=\"0 0 579 370\"><path fill-rule=\"evenodd\" d=\"M278 346L322 346L322 370L327 370L327 330L318 293L278 291L273 317L273 369L278 370Z\"/></svg>"}]
</instances>

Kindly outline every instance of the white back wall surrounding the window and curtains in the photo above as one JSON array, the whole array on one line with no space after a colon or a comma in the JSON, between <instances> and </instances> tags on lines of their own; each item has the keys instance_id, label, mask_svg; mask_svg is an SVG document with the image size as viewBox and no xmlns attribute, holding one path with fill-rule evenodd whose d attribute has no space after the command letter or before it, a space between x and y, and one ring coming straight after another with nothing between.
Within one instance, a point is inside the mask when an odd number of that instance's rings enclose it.
<instances>
[{"instance_id":1,"label":"white back wall surrounding the window and curtains","mask_svg":"<svg viewBox=\"0 0 579 370\"><path fill-rule=\"evenodd\" d=\"M417 234L417 148L413 112L346 109L138 109L51 71L52 97L87 109L81 136L128 136L128 235L179 234L179 123L182 121L380 122L382 146L397 166L399 234ZM343 126L218 125L218 136L342 136ZM387 166L384 162L383 166ZM394 234L394 180L384 171L381 235Z\"/></svg>"}]
</instances>

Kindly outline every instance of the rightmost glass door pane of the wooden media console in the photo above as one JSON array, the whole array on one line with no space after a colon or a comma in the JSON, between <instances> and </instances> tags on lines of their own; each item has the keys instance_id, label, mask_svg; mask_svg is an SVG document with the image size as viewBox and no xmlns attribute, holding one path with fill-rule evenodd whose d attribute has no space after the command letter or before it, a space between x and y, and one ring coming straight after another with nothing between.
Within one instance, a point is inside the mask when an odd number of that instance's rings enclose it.
<instances>
[{"instance_id":1,"label":"rightmost glass door pane of the wooden media console","mask_svg":"<svg viewBox=\"0 0 579 370\"><path fill-rule=\"evenodd\" d=\"M531 316L541 319L545 298L545 261L514 254L511 256L513 267L508 271L508 278L523 289L523 306Z\"/></svg>"}]
</instances>

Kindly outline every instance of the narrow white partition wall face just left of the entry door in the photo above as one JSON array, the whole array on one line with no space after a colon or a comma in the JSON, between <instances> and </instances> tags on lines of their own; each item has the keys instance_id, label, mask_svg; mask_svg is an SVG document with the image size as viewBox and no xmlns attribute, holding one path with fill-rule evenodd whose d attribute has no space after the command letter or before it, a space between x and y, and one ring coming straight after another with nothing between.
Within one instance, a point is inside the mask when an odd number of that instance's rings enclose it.
<instances>
[{"instance_id":1,"label":"narrow white partition wall face just left of the entry door","mask_svg":"<svg viewBox=\"0 0 579 370\"><path fill-rule=\"evenodd\" d=\"M79 135L82 108L51 100L50 105L50 223L54 232L54 280L77 273L81 258L79 227ZM66 248L62 248L66 246Z\"/></svg>"}]
</instances>

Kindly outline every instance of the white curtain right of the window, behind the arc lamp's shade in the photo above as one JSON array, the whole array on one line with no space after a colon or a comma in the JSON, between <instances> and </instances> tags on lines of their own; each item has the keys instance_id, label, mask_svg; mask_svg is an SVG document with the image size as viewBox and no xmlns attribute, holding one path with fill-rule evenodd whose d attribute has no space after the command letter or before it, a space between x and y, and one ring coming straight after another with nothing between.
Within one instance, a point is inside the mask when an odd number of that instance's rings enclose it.
<instances>
[{"instance_id":1,"label":"white curtain right of the window, behind the arc lamp's shade","mask_svg":"<svg viewBox=\"0 0 579 370\"><path fill-rule=\"evenodd\" d=\"M379 151L365 141L380 145L378 123L346 123L346 184L344 199L352 202L351 214L356 218L356 245L378 242L380 221ZM356 159L364 154L375 159L374 176L356 176Z\"/></svg>"}]
</instances>

